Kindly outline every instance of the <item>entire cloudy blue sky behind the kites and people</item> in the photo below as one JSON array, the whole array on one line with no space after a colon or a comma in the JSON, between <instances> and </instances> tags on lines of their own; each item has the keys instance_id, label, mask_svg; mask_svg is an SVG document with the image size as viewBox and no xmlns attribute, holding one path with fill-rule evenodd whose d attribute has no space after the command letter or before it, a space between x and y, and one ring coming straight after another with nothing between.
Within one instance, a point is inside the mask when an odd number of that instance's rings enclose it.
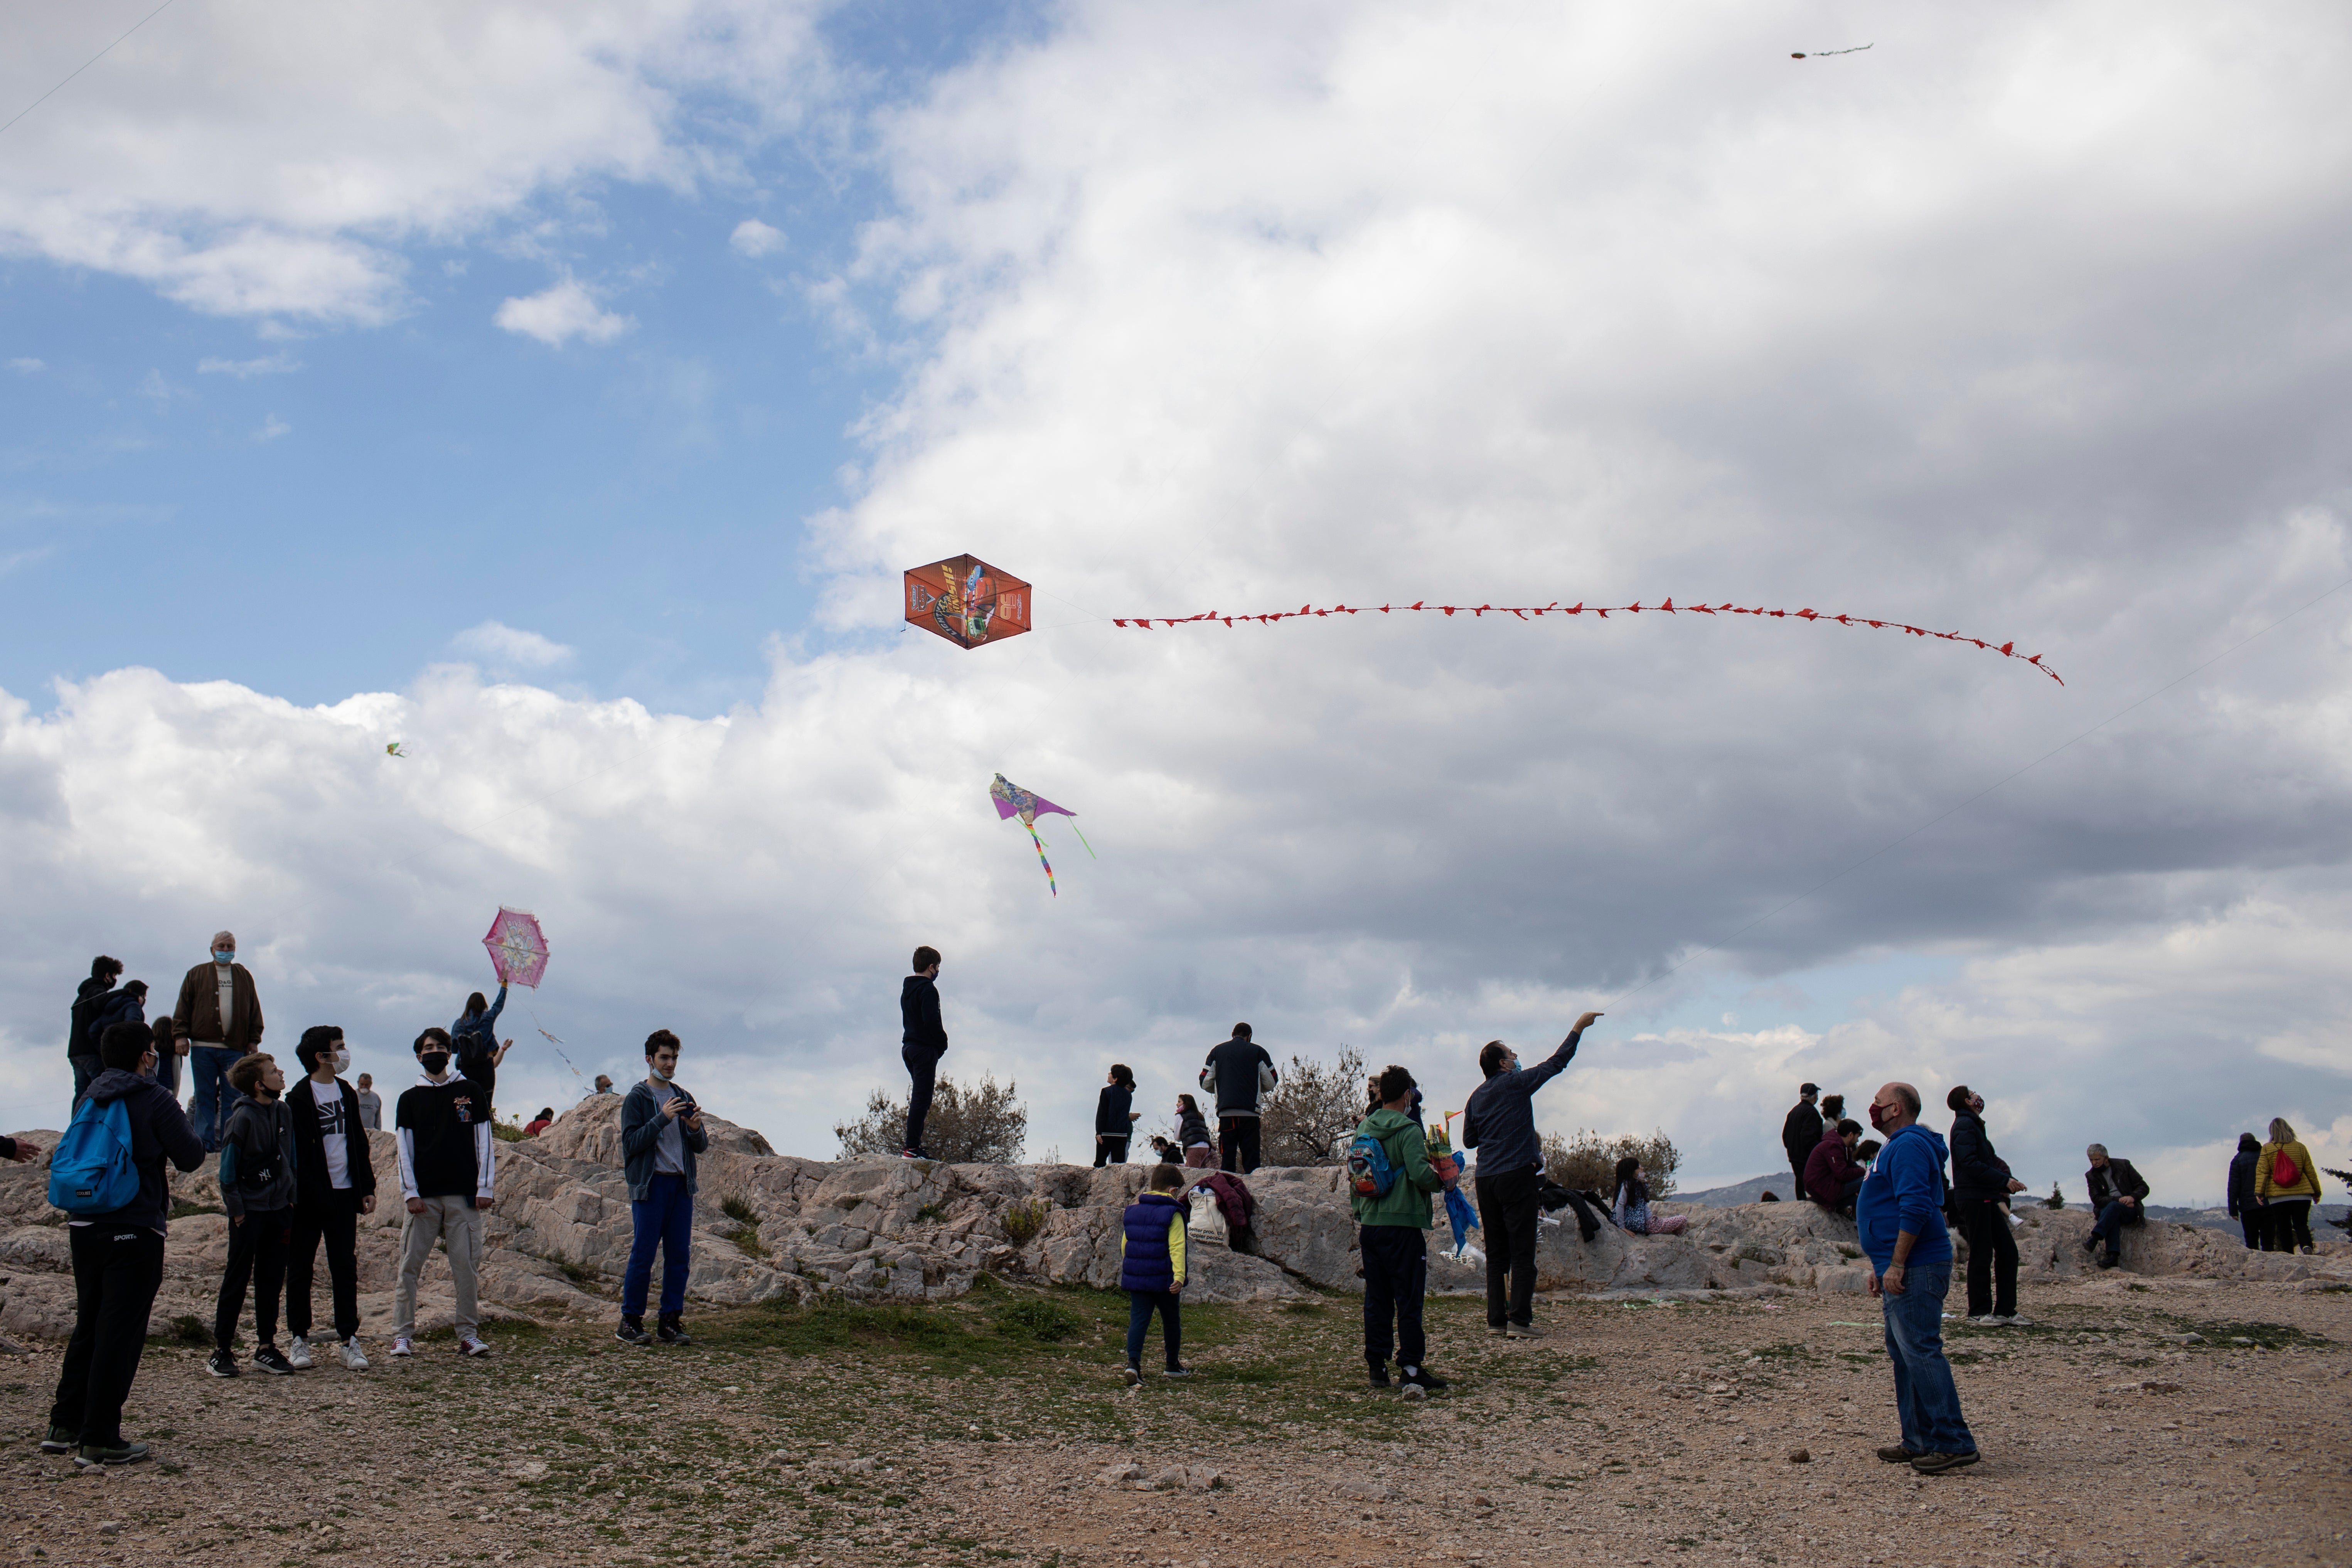
<instances>
[{"instance_id":1,"label":"entire cloudy blue sky behind the kites and people","mask_svg":"<svg viewBox=\"0 0 2352 1568\"><path fill-rule=\"evenodd\" d=\"M26 7L0 118L151 9ZM929 940L1033 1154L1235 1018L1458 1103L1597 1006L1545 1121L1696 1185L1806 1077L2077 1199L2343 1164L2347 71L2324 5L181 0L0 132L0 1121L94 952L233 926L395 1077L508 903L503 1110L668 1025L807 1154ZM964 550L1037 632L898 625ZM2067 684L1110 621L1665 595Z\"/></svg>"}]
</instances>

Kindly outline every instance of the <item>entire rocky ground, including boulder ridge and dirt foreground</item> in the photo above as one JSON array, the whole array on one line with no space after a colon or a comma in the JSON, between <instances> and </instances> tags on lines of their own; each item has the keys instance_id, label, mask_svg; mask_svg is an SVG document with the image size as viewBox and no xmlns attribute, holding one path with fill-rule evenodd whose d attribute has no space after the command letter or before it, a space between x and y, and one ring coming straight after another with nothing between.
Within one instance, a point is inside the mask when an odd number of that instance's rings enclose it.
<instances>
[{"instance_id":1,"label":"entire rocky ground, including boulder ridge and dirt foreground","mask_svg":"<svg viewBox=\"0 0 2352 1568\"><path fill-rule=\"evenodd\" d=\"M2352 1563L2333 1239L2147 1225L2100 1274L2084 1215L2020 1211L2037 1326L1952 1324L1987 1458L1919 1481L1870 1453L1896 1436L1877 1314L1853 1227L1809 1206L1545 1229L1538 1342L1491 1340L1477 1272L1439 1265L1456 1387L1406 1401L1362 1387L1336 1175L1261 1171L1240 1251L1195 1234L1197 1375L1127 1389L1101 1286L1136 1168L821 1164L743 1128L703 1164L696 1345L614 1342L614 1112L501 1145L489 1361L452 1352L437 1267L421 1354L383 1354L386 1213L372 1371L207 1378L223 1220L181 1178L127 1413L158 1460L113 1474L33 1450L71 1276L40 1171L0 1171L0 1328L28 1349L0 1356L0 1563Z\"/></svg>"}]
</instances>

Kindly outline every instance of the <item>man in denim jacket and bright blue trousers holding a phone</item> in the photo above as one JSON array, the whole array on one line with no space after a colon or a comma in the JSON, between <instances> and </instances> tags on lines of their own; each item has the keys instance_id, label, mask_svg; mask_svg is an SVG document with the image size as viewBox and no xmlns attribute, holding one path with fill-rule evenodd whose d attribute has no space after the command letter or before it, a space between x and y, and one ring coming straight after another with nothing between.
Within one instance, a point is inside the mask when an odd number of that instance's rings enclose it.
<instances>
[{"instance_id":1,"label":"man in denim jacket and bright blue trousers holding a phone","mask_svg":"<svg viewBox=\"0 0 2352 1568\"><path fill-rule=\"evenodd\" d=\"M654 1030L644 1037L647 1074L621 1103L621 1166L628 1175L628 1272L621 1274L623 1345L691 1345L680 1321L687 1312L687 1265L694 1248L694 1157L710 1147L703 1107L677 1086L677 1037ZM644 1293L654 1284L654 1248L661 1248L661 1319L644 1333Z\"/></svg>"}]
</instances>

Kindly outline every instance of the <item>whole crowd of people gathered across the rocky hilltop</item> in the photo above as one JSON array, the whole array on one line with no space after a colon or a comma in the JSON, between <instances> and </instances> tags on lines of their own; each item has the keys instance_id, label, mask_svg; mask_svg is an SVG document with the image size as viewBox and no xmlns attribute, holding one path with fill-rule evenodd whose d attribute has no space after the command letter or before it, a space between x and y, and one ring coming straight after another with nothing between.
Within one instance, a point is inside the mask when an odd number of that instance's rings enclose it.
<instances>
[{"instance_id":1,"label":"whole crowd of people gathered across the rocky hilltop","mask_svg":"<svg viewBox=\"0 0 2352 1568\"><path fill-rule=\"evenodd\" d=\"M73 1063L75 1110L49 1161L49 1201L66 1211L75 1279L75 1326L40 1448L71 1453L80 1467L127 1465L148 1455L122 1436L122 1406L139 1371L148 1312L162 1284L172 1199L167 1166L195 1171L219 1159L221 1206L228 1218L228 1258L214 1309L214 1352L207 1371L242 1375L235 1331L247 1295L254 1309L252 1366L294 1375L320 1352L348 1371L367 1371L358 1324L355 1239L376 1211L376 1168L367 1131L381 1131L383 1103L369 1074L348 1084L350 1051L343 1030L313 1025L294 1048L301 1070L287 1086L275 1056L261 1051L263 1013L252 973L238 964L230 931L212 938L209 961L193 966L167 1016L146 1018L148 987L120 983L122 964L92 961L71 1006L66 1053ZM938 1004L941 954L917 947L915 973L901 985L901 1056L910 1074L903 1154L929 1159L924 1119L948 1034ZM456 1298L454 1331L461 1356L487 1356L480 1335L477 1276L482 1218L496 1206L496 1138L492 1088L513 1041L496 1039L506 990L496 999L468 997L452 1027L428 1027L414 1041L416 1081L393 1105L393 1143L405 1206L400 1284L395 1291L393 1356L416 1354L416 1291L435 1251L447 1255ZM1479 1056L1479 1086L1461 1114L1461 1145L1477 1152L1470 1222L1486 1239L1486 1328L1508 1340L1543 1338L1534 1321L1536 1237L1545 1208L1576 1206L1590 1241L1602 1218L1635 1234L1677 1234L1682 1215L1651 1206L1649 1173L1639 1159L1616 1166L1613 1199L1578 1194L1545 1175L1534 1095L1573 1060L1599 1013L1576 1020L1559 1046L1536 1065L1489 1041ZM684 1288L691 1269L696 1157L706 1152L701 1105L677 1084L680 1041L656 1030L644 1041L647 1074L621 1103L621 1157L630 1197L633 1241L621 1288L628 1345L691 1345L684 1328ZM179 1063L193 1063L195 1093L179 1103ZM1272 1056L1247 1023L1202 1063L1200 1091L1216 1107L1216 1140L1192 1093L1178 1095L1176 1140L1152 1138L1160 1164L1122 1215L1120 1284L1129 1293L1127 1366L1141 1382L1143 1340L1162 1324L1164 1373L1183 1366L1181 1295L1188 1279L1188 1187L1232 1201L1240 1178L1258 1168L1263 1095L1275 1088ZM600 1074L595 1093L614 1093ZM1136 1077L1115 1065L1096 1107L1096 1166L1122 1164L1141 1112ZM1940 1474L1978 1458L1959 1410L1952 1368L1943 1356L1943 1307L1952 1286L1950 1229L1969 1239L1969 1319L2023 1324L2016 1314L2018 1251L2011 1239L2011 1199L2025 1190L1992 1147L1985 1100L1952 1088L1952 1140L1919 1124L1919 1091L1891 1081L1872 1095L1870 1126L1884 1145L1860 1140L1860 1124L1844 1117L1839 1095L1823 1098L1804 1084L1783 1124L1783 1145L1797 1197L1856 1220L1870 1262L1870 1293L1884 1307L1884 1342L1893 1366L1900 1443L1879 1448L1889 1462ZM1446 1387L1428 1363L1423 1302L1428 1298L1428 1232L1432 1197L1456 1208L1463 1159L1423 1131L1423 1095L1402 1065L1367 1081L1367 1107L1348 1143L1345 1185L1357 1225L1364 1276L1364 1363L1369 1385L1402 1387L1409 1396ZM529 1133L553 1121L534 1117ZM0 1140L0 1159L35 1159L24 1140ZM2103 1145L2089 1150L2086 1187L2096 1211L2086 1246L2105 1267L2117 1262L2122 1232L2145 1220L2147 1182L2131 1161ZM1211 1168L1216 1161L1216 1168ZM1945 1168L1950 1164L1950 1175ZM1771 1194L1766 1194L1771 1197ZM2270 1140L2251 1133L2230 1171L2230 1211L2246 1218L2246 1244L2310 1251L2310 1206L2317 1171L2296 1131L2277 1119ZM1247 1197L1242 1199L1247 1218ZM1463 1206L1465 1208L1465 1206ZM327 1255L332 1340L313 1340L313 1281L320 1246ZM647 1331L652 1269L661 1258L661 1298ZM280 1302L287 1349L278 1349ZM1395 1368L1395 1375L1392 1371Z\"/></svg>"}]
</instances>

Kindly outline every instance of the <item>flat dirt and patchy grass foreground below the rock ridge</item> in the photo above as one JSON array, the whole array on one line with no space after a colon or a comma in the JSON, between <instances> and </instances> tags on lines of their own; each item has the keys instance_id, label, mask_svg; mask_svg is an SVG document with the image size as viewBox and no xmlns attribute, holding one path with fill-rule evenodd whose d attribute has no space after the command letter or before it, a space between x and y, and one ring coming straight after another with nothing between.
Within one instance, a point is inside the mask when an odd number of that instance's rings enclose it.
<instances>
[{"instance_id":1,"label":"flat dirt and patchy grass foreground below the rock ridge","mask_svg":"<svg viewBox=\"0 0 2352 1568\"><path fill-rule=\"evenodd\" d=\"M1548 1300L1541 1342L1439 1300L1425 1401L1362 1389L1348 1298L1192 1309L1197 1375L1131 1392L1091 1291L235 1382L155 1345L125 1429L158 1460L106 1476L33 1453L47 1347L0 1366L0 1561L2352 1563L2352 1295L2107 1279L2025 1312L1952 1326L1985 1462L1936 1481L1872 1458L1898 1434L1851 1295ZM1103 1483L1127 1465L1167 1490Z\"/></svg>"}]
</instances>

